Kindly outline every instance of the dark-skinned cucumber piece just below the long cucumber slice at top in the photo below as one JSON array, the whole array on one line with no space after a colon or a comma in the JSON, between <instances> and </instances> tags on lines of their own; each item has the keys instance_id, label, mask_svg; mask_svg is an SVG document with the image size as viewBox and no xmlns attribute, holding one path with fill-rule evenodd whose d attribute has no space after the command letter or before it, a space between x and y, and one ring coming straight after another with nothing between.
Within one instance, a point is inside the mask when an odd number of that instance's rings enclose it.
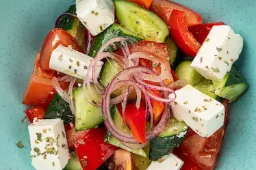
<instances>
[{"instance_id":1,"label":"dark-skinned cucumber piece just below the long cucumber slice at top","mask_svg":"<svg viewBox=\"0 0 256 170\"><path fill-rule=\"evenodd\" d=\"M103 46L103 44L105 44L107 41L111 40L112 38L116 38L116 37L129 38L129 41L127 41L128 44L141 40L140 38L138 38L138 35L133 31L130 31L129 29L126 29L125 27L122 27L121 25L114 23L112 26L105 29L103 33L100 33L98 36L96 36L92 40L92 45L90 47L90 51L88 55L90 57L95 57L99 49L101 48L101 46ZM120 45L116 44L116 47L118 46ZM114 49L109 47L105 49L105 52L114 51L117 49L118 48Z\"/></svg>"}]
</instances>

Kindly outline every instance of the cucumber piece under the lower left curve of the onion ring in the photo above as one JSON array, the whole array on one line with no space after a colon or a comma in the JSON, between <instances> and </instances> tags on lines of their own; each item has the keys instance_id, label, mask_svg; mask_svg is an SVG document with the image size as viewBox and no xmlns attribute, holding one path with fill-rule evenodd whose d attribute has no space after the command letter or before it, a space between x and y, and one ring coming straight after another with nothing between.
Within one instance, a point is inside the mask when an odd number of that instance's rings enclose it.
<instances>
[{"instance_id":1,"label":"cucumber piece under the lower left curve of the onion ring","mask_svg":"<svg viewBox=\"0 0 256 170\"><path fill-rule=\"evenodd\" d=\"M114 107L114 106L112 106ZM131 133L131 130L129 130L128 126L125 124L125 122L123 121L123 117L122 115L120 115L118 109L110 109L111 115L114 118L114 125L116 126L116 128L118 128L119 130L122 130L125 133ZM138 154L140 156L143 157L147 157L146 152L144 152L144 150L140 149L131 149L130 147L125 146L121 141L119 141L118 139L116 139L110 132L107 132L106 136L105 136L105 142L110 143L116 147L120 147L123 150L127 150L133 154Z\"/></svg>"}]
</instances>

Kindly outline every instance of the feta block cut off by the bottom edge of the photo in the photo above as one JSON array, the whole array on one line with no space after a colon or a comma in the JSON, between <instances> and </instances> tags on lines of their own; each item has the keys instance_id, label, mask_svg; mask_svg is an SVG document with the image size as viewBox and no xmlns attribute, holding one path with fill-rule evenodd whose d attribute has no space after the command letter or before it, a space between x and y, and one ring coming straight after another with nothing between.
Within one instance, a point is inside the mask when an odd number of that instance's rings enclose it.
<instances>
[{"instance_id":1,"label":"feta block cut off by the bottom edge of the photo","mask_svg":"<svg viewBox=\"0 0 256 170\"><path fill-rule=\"evenodd\" d=\"M146 170L179 170L184 162L174 154L163 156L158 161L151 162Z\"/></svg>"}]
</instances>

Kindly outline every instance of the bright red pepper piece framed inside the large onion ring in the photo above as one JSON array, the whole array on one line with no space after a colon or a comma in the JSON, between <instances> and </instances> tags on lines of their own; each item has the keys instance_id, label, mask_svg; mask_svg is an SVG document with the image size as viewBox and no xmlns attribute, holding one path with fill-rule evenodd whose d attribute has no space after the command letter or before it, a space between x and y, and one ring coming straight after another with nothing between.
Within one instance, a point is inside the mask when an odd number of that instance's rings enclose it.
<instances>
[{"instance_id":1,"label":"bright red pepper piece framed inside the large onion ring","mask_svg":"<svg viewBox=\"0 0 256 170\"><path fill-rule=\"evenodd\" d=\"M118 111L122 112L122 107L118 104ZM125 122L131 129L134 139L140 143L146 142L146 109L144 103L140 104L137 110L135 103L127 103L123 114Z\"/></svg>"}]
</instances>

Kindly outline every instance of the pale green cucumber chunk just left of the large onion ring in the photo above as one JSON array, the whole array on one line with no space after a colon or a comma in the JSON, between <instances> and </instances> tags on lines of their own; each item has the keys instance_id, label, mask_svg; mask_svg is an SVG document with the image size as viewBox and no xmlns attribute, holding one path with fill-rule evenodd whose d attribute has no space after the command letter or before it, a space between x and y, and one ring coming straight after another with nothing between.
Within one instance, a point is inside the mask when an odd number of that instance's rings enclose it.
<instances>
[{"instance_id":1,"label":"pale green cucumber chunk just left of the large onion ring","mask_svg":"<svg viewBox=\"0 0 256 170\"><path fill-rule=\"evenodd\" d=\"M94 94L94 98L97 98L97 101L94 102L101 101L102 96L97 93L94 87L91 89L91 93ZM86 94L89 94L88 89L86 89ZM103 122L101 107L95 107L86 100L82 87L75 89L74 96L75 130L88 130L98 126Z\"/></svg>"}]
</instances>

